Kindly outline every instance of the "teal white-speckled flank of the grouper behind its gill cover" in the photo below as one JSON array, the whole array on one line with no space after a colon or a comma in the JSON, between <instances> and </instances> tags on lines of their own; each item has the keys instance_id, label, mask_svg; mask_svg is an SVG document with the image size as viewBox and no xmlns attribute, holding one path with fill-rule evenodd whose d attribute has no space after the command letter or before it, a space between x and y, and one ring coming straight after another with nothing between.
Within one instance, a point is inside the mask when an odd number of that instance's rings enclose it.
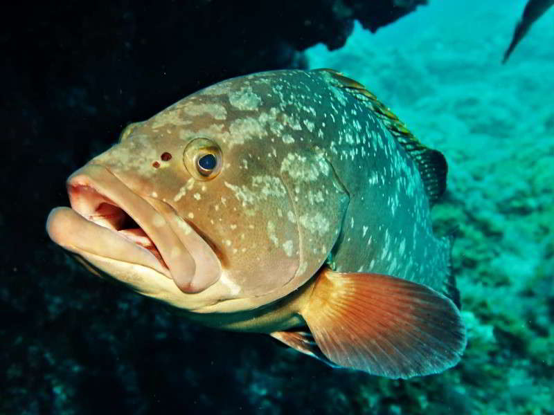
<instances>
[{"instance_id":1,"label":"teal white-speckled flank of the grouper behind its gill cover","mask_svg":"<svg viewBox=\"0 0 554 415\"><path fill-rule=\"evenodd\" d=\"M322 73L325 82L337 84ZM339 272L395 275L440 291L449 240L431 229L429 198L412 158L364 102L330 88L331 111L316 121L334 137L325 157L349 195L331 266ZM349 115L348 117L345 116Z\"/></svg>"}]
</instances>

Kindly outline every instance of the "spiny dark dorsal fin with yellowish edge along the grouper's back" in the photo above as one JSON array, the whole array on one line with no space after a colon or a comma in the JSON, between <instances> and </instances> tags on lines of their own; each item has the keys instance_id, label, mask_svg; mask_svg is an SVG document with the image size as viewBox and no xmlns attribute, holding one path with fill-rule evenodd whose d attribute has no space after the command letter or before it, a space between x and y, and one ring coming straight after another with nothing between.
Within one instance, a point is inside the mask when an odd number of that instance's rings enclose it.
<instances>
[{"instance_id":1,"label":"spiny dark dorsal fin with yellowish edge along the grouper's back","mask_svg":"<svg viewBox=\"0 0 554 415\"><path fill-rule=\"evenodd\" d=\"M422 145L406 128L406 125L386 105L377 100L377 97L370 93L364 85L333 69L323 68L316 69L316 71L329 73L337 81L336 86L351 93L358 100L365 102L366 106L375 113L379 120L382 120L388 131L415 161L425 185L425 191L429 196L429 203L433 205L446 190L448 165L445 156L440 151Z\"/></svg>"}]
</instances>

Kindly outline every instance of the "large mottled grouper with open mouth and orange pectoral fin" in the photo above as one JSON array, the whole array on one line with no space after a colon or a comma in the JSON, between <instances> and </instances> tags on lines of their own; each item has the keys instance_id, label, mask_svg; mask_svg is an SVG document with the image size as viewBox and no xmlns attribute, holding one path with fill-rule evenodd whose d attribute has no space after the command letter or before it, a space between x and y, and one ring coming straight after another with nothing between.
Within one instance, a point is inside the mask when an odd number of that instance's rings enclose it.
<instances>
[{"instance_id":1,"label":"large mottled grouper with open mouth and orange pectoral fin","mask_svg":"<svg viewBox=\"0 0 554 415\"><path fill-rule=\"evenodd\" d=\"M270 71L129 125L70 176L72 209L46 226L191 320L408 378L465 347L450 240L431 229L446 171L361 84Z\"/></svg>"}]
</instances>

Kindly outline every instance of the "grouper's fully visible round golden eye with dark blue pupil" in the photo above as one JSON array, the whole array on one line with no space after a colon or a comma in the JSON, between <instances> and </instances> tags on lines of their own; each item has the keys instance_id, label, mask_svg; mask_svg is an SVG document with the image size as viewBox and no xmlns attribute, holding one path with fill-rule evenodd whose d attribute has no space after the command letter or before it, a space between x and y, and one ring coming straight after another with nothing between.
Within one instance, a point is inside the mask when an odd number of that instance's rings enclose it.
<instances>
[{"instance_id":1,"label":"grouper's fully visible round golden eye with dark blue pupil","mask_svg":"<svg viewBox=\"0 0 554 415\"><path fill-rule=\"evenodd\" d=\"M186 169L197 180L211 180L220 173L223 164L220 147L208 138L195 138L183 154Z\"/></svg>"}]
</instances>

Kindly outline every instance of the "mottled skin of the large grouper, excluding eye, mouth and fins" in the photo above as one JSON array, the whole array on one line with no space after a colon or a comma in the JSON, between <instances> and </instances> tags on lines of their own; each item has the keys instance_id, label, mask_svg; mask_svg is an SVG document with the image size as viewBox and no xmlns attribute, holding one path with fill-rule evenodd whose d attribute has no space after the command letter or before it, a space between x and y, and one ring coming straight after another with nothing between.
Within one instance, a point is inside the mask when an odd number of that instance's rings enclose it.
<instances>
[{"instance_id":1,"label":"mottled skin of the large grouper, excluding eye, mouth and fins","mask_svg":"<svg viewBox=\"0 0 554 415\"><path fill-rule=\"evenodd\" d=\"M148 295L199 313L249 311L292 293L326 262L443 288L449 242L431 230L414 161L328 71L226 80L122 136L91 165L109 169L161 214L177 212L175 233L179 223L182 232L192 226L223 269L202 292ZM222 150L211 181L183 165L197 138ZM164 152L172 158L161 160Z\"/></svg>"}]
</instances>

